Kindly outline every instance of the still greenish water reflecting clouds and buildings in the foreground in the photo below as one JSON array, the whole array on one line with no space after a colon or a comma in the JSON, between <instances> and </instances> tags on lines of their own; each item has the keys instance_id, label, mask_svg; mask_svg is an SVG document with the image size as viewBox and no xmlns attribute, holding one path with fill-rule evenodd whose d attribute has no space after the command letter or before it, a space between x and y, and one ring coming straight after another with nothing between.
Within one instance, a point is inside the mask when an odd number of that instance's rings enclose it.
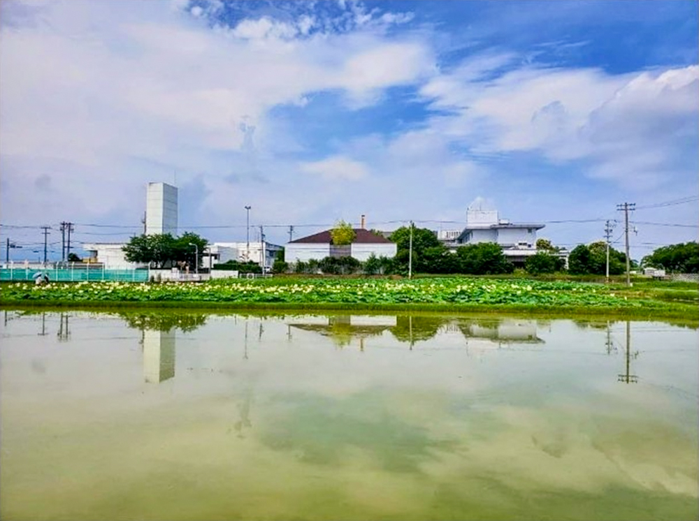
<instances>
[{"instance_id":1,"label":"still greenish water reflecting clouds and buildings in the foreground","mask_svg":"<svg viewBox=\"0 0 699 521\"><path fill-rule=\"evenodd\" d=\"M698 331L2 311L3 520L696 520Z\"/></svg>"}]
</instances>

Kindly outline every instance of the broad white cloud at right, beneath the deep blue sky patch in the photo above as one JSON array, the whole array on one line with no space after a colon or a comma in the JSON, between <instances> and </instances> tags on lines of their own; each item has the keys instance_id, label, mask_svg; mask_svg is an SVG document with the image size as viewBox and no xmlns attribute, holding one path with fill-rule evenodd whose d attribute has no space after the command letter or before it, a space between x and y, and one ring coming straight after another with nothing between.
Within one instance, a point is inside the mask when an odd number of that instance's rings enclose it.
<instances>
[{"instance_id":1,"label":"broad white cloud at right, beneath the deep blue sky patch","mask_svg":"<svg viewBox=\"0 0 699 521\"><path fill-rule=\"evenodd\" d=\"M677 157L686 157L686 140L696 138L699 67L609 75L521 66L502 73L512 61L508 54L475 57L426 82L421 94L450 112L433 117L431 128L474 154L538 151L552 161L587 161L589 175L626 186L689 174Z\"/></svg>"}]
</instances>

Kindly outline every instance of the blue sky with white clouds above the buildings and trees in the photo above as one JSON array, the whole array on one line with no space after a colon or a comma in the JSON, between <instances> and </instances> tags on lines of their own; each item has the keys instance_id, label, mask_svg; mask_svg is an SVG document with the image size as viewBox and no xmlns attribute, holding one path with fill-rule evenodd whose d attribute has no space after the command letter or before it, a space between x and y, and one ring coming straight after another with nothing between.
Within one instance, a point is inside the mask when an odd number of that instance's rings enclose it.
<instances>
[{"instance_id":1,"label":"blue sky with white clouds above the buildings and trees","mask_svg":"<svg viewBox=\"0 0 699 521\"><path fill-rule=\"evenodd\" d=\"M0 1L0 254L141 233L276 244L338 220L572 249L697 240L698 6L665 1Z\"/></svg>"}]
</instances>

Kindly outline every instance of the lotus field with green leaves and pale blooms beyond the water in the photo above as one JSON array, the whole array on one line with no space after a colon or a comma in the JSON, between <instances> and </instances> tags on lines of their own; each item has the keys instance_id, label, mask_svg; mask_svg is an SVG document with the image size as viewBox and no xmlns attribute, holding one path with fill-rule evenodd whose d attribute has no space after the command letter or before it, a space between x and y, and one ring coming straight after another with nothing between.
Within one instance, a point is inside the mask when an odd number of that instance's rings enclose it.
<instances>
[{"instance_id":1,"label":"lotus field with green leaves and pale blooms beyond the water","mask_svg":"<svg viewBox=\"0 0 699 521\"><path fill-rule=\"evenodd\" d=\"M655 307L599 284L521 279L251 279L163 284L129 282L3 284L1 302L230 302L286 304L526 304Z\"/></svg>"}]
</instances>

